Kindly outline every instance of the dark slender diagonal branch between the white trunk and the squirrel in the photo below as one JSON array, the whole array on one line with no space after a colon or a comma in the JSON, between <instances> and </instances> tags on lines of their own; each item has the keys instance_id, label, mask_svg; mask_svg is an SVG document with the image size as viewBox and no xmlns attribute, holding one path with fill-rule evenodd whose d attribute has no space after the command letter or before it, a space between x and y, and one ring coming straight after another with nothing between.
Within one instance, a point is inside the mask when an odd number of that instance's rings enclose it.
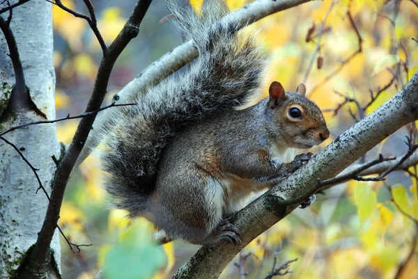
<instances>
[{"instance_id":1,"label":"dark slender diagonal branch between the white trunk and the squirrel","mask_svg":"<svg viewBox=\"0 0 418 279\"><path fill-rule=\"evenodd\" d=\"M102 58L102 62L98 69L93 93L86 107L86 113L100 109L100 104L102 104L104 95L106 94L107 83L114 63L119 54L121 54L126 47L127 43L137 36L139 24L141 24L149 5L150 0L139 0L137 2L132 15L130 15L125 26L123 26L122 31L107 49L107 56ZM56 223L59 219L59 211L61 209L65 186L79 152L82 150L88 133L93 125L95 115L97 115L97 113L84 117L79 122L68 151L65 153L63 161L61 161L59 168L56 170L54 185L52 186L52 193L50 196L51 202L49 202L45 221L38 234L36 247L33 249L33 261L31 261L30 266L30 269L33 271L42 269L49 257L49 244L51 243L52 236L56 229Z\"/></svg>"}]
</instances>

